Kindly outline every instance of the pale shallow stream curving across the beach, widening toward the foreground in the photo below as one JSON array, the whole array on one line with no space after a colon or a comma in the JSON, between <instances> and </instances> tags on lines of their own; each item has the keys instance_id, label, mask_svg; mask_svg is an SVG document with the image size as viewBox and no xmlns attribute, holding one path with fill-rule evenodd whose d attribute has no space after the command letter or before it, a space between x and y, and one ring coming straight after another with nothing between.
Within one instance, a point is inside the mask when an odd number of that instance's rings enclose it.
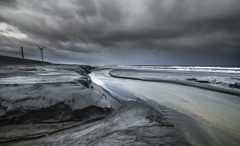
<instances>
[{"instance_id":1,"label":"pale shallow stream curving across the beach, widening toward the foreground","mask_svg":"<svg viewBox=\"0 0 240 146\"><path fill-rule=\"evenodd\" d=\"M119 99L140 98L152 104L192 145L240 145L239 96L171 83L113 78L109 71L94 71L90 76Z\"/></svg>"}]
</instances>

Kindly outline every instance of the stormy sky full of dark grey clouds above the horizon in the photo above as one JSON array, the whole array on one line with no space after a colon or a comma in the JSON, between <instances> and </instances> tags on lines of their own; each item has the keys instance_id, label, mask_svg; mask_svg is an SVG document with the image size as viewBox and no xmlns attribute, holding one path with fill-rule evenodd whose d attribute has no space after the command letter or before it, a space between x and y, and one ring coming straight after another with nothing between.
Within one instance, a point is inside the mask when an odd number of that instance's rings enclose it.
<instances>
[{"instance_id":1,"label":"stormy sky full of dark grey clouds above the horizon","mask_svg":"<svg viewBox=\"0 0 240 146\"><path fill-rule=\"evenodd\" d=\"M123 65L240 65L240 0L0 0L0 55Z\"/></svg>"}]
</instances>

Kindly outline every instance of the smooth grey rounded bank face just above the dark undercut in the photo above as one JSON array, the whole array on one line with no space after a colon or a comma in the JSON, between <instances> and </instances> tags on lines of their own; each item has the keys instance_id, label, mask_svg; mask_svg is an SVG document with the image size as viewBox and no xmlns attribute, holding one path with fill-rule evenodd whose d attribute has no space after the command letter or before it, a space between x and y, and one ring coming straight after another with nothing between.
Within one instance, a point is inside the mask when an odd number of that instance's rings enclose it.
<instances>
[{"instance_id":1,"label":"smooth grey rounded bank face just above the dark undercut","mask_svg":"<svg viewBox=\"0 0 240 146\"><path fill-rule=\"evenodd\" d=\"M14 122L28 113L54 112L52 120L67 120L64 114L90 106L111 108L111 104L99 92L78 82L55 84L0 85L0 124ZM47 110L49 109L49 110ZM58 109L58 111L54 111ZM47 116L48 114L46 114ZM44 115L41 115L41 119ZM56 118L54 117L56 116ZM71 118L71 117L69 117ZM10 120L10 121L7 121ZM15 120L15 121L13 121ZM21 119L19 119L21 120ZM22 123L22 122L20 122ZM10 124L10 123L9 123Z\"/></svg>"}]
</instances>

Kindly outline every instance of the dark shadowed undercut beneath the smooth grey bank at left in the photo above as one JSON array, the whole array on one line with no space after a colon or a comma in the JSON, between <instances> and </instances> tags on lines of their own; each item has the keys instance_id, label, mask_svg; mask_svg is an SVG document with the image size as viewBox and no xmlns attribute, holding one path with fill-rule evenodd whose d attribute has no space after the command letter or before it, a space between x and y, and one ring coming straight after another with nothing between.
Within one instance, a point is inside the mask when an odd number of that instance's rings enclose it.
<instances>
[{"instance_id":1,"label":"dark shadowed undercut beneath the smooth grey bank at left","mask_svg":"<svg viewBox=\"0 0 240 146\"><path fill-rule=\"evenodd\" d=\"M26 113L17 118L0 120L0 125L7 124L29 124L29 123L57 123L66 121L93 121L106 117L111 109L103 109L96 106L89 106L81 110L74 110L59 103L39 111L25 111Z\"/></svg>"}]
</instances>

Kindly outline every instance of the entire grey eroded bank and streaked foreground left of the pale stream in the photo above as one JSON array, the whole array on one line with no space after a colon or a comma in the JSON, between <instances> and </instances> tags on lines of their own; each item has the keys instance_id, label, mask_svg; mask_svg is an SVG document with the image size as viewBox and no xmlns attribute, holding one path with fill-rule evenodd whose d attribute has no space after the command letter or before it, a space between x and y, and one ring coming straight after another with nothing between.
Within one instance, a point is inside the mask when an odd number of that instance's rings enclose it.
<instances>
[{"instance_id":1,"label":"entire grey eroded bank and streaked foreground left of the pale stream","mask_svg":"<svg viewBox=\"0 0 240 146\"><path fill-rule=\"evenodd\" d=\"M92 83L92 69L1 67L0 145L189 145L157 110Z\"/></svg>"}]
</instances>

